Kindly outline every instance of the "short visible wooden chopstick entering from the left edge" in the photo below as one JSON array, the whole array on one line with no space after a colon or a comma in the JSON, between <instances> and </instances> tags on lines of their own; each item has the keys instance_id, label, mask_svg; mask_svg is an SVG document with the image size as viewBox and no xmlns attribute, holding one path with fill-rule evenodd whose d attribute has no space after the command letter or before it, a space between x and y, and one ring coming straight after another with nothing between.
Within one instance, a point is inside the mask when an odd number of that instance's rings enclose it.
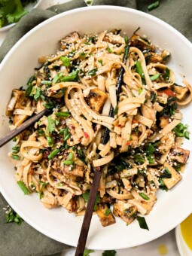
<instances>
[{"instance_id":1,"label":"short visible wooden chopstick entering from the left edge","mask_svg":"<svg viewBox=\"0 0 192 256\"><path fill-rule=\"evenodd\" d=\"M38 114L35 114L33 117L29 118L29 120L26 120L24 123L22 123L20 126L12 130L10 133L6 134L2 138L0 138L0 148L4 146L6 143L10 142L11 139L14 139L15 136L22 133L24 130L26 130L29 126L31 126L33 123L37 122L41 117L44 115L50 113L50 109L45 108L43 111L39 112Z\"/></svg>"}]
</instances>

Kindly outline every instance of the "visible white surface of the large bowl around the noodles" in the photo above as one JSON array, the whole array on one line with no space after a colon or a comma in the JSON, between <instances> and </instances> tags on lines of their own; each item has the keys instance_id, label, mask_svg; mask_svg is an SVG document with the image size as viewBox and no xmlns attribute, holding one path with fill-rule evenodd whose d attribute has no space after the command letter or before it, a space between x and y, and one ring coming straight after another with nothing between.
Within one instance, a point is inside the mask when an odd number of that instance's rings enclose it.
<instances>
[{"instance_id":1,"label":"visible white surface of the large bowl around the noodles","mask_svg":"<svg viewBox=\"0 0 192 256\"><path fill-rule=\"evenodd\" d=\"M184 74L191 83L192 45L162 20L129 8L97 6L75 9L59 14L32 29L15 44L3 60L0 66L0 109L2 110L0 136L8 133L5 108L11 90L26 84L34 72L34 67L39 66L38 56L55 53L60 38L73 31L90 33L112 28L122 29L123 32L132 35L139 26L140 35L148 35L154 44L171 51L169 66L175 71L176 81L179 83L181 81L179 74ZM191 105L183 109L183 113L183 123L188 123L191 130ZM186 140L184 148L190 150L191 141ZM5 199L26 222L41 233L59 242L77 245L83 218L77 218L62 208L45 209L36 194L24 196L14 180L14 166L8 158L10 149L9 144L0 150L0 190ZM146 216L149 231L140 229L137 221L127 227L120 218L116 218L116 224L102 227L99 218L94 215L87 247L98 250L132 247L156 239L176 227L190 214L192 208L190 196L192 179L189 168L191 165L190 157L179 184L169 192L158 192L157 203L150 215Z\"/></svg>"}]
</instances>

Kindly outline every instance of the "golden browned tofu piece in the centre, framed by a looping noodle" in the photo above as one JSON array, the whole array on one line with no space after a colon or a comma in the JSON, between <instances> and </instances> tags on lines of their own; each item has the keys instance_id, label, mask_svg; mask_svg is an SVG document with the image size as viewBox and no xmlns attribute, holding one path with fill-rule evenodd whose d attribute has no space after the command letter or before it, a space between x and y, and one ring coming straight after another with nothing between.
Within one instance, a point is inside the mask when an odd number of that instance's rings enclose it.
<instances>
[{"instance_id":1,"label":"golden browned tofu piece in the centre, framed by a looping noodle","mask_svg":"<svg viewBox=\"0 0 192 256\"><path fill-rule=\"evenodd\" d=\"M98 88L94 88L90 90L90 94L86 97L87 104L93 111L100 112L102 111L102 107L105 104L105 100L108 98L107 94L99 90Z\"/></svg>"}]
</instances>

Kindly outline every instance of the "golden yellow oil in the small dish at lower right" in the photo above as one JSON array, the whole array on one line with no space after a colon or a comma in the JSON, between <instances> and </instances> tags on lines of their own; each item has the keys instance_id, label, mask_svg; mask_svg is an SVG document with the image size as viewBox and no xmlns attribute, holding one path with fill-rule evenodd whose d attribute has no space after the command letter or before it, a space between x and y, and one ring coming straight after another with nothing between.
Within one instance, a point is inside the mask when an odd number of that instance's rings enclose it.
<instances>
[{"instance_id":1,"label":"golden yellow oil in the small dish at lower right","mask_svg":"<svg viewBox=\"0 0 192 256\"><path fill-rule=\"evenodd\" d=\"M192 214L189 215L183 222L181 222L181 234L184 242L192 251Z\"/></svg>"}]
</instances>

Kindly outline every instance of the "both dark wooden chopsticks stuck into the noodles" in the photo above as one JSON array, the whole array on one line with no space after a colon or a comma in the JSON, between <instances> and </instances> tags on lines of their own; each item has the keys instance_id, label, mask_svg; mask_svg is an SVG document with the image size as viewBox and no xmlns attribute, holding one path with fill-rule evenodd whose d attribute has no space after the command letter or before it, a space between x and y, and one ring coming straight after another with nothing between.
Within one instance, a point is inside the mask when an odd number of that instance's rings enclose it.
<instances>
[{"instance_id":1,"label":"both dark wooden chopsticks stuck into the noodles","mask_svg":"<svg viewBox=\"0 0 192 256\"><path fill-rule=\"evenodd\" d=\"M125 46L125 52L123 55L123 63L124 64L126 64L126 59L128 57L129 49L130 49L130 47L128 45L129 41L128 40L125 40L125 41L126 41L126 46ZM119 74L119 77L117 80L117 89L116 89L117 102L119 101L120 90L121 90L121 85L122 85L122 81L123 81L123 74L124 74L124 69L123 69L123 67L121 67L120 74ZM19 135L24 130L26 130L33 123L37 122L41 117L43 117L44 115L49 114L49 113L50 113L50 109L46 108L43 111L39 112L38 114L35 114L35 116L31 117L29 120L26 120L19 127L15 128L7 135L3 136L0 139L0 148L2 148L2 146L5 145L6 143L10 142L11 139L14 139L15 136ZM112 105L110 108L109 117L114 117L114 108ZM106 128L103 139L102 139L103 145L106 145L109 140L109 132L110 131L108 130L108 128ZM96 169L96 172L95 172L95 175L93 178L93 184L90 189L90 198L87 203L87 209L85 211L84 221L83 221L83 224L81 227L81 233L80 233L80 236L78 239L78 246L76 248L75 256L83 256L83 254L84 254L84 248L85 248L86 241L87 241L87 235L88 235L88 232L90 229L90 221L91 221L91 218L93 215L93 208L94 208L95 201L96 201L96 194L98 191L101 175L102 175L102 170Z\"/></svg>"}]
</instances>

